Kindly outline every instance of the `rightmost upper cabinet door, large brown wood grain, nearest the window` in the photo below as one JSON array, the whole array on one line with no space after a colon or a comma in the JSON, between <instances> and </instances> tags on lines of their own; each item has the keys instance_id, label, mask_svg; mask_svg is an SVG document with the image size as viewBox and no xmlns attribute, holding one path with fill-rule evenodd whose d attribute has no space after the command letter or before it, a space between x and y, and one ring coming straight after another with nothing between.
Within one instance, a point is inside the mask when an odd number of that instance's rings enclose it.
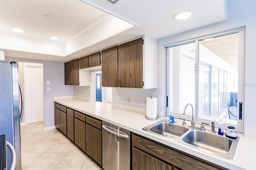
<instances>
[{"instance_id":1,"label":"rightmost upper cabinet door, large brown wood grain, nearest the window","mask_svg":"<svg viewBox=\"0 0 256 170\"><path fill-rule=\"evenodd\" d=\"M119 45L119 87L143 88L142 38Z\"/></svg>"}]
</instances>

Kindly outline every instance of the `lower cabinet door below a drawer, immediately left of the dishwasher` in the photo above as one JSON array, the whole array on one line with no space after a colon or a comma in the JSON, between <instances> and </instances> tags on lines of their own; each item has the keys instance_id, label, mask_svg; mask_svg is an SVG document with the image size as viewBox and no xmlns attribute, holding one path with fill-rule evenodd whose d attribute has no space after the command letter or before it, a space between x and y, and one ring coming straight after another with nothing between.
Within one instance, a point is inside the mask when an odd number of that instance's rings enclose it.
<instances>
[{"instance_id":1,"label":"lower cabinet door below a drawer, immediately left of the dishwasher","mask_svg":"<svg viewBox=\"0 0 256 170\"><path fill-rule=\"evenodd\" d=\"M86 153L102 165L101 130L86 123Z\"/></svg>"}]
</instances>

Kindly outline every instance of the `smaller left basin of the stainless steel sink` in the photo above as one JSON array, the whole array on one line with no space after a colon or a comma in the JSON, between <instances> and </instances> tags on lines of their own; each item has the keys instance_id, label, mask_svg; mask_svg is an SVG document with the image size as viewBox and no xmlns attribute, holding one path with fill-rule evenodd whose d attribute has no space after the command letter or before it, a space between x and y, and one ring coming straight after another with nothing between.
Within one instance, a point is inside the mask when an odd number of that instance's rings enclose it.
<instances>
[{"instance_id":1,"label":"smaller left basin of the stainless steel sink","mask_svg":"<svg viewBox=\"0 0 256 170\"><path fill-rule=\"evenodd\" d=\"M186 133L188 131L188 128L174 125L172 123L169 123L168 120L162 120L158 123L143 128L143 130L161 136L166 136L168 138L178 138L182 136L182 134Z\"/></svg>"}]
</instances>

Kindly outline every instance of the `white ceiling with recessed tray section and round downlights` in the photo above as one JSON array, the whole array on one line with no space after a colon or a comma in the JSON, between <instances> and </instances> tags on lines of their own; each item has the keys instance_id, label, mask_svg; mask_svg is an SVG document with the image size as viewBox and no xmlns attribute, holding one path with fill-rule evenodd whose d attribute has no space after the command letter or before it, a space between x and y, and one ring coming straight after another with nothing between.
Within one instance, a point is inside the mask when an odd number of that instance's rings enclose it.
<instances>
[{"instance_id":1,"label":"white ceiling with recessed tray section and round downlights","mask_svg":"<svg viewBox=\"0 0 256 170\"><path fill-rule=\"evenodd\" d=\"M194 15L173 20L181 10ZM68 61L142 34L158 39L226 19L222 0L0 0L0 49L9 57Z\"/></svg>"}]
</instances>

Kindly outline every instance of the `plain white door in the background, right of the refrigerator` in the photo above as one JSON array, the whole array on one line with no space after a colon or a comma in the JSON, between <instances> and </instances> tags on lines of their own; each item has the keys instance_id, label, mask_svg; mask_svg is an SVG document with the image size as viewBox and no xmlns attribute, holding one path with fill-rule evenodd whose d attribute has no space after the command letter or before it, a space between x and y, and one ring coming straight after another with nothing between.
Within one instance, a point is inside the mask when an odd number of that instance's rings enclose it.
<instances>
[{"instance_id":1,"label":"plain white door in the background, right of the refrigerator","mask_svg":"<svg viewBox=\"0 0 256 170\"><path fill-rule=\"evenodd\" d=\"M24 63L25 123L44 121L43 64Z\"/></svg>"}]
</instances>

